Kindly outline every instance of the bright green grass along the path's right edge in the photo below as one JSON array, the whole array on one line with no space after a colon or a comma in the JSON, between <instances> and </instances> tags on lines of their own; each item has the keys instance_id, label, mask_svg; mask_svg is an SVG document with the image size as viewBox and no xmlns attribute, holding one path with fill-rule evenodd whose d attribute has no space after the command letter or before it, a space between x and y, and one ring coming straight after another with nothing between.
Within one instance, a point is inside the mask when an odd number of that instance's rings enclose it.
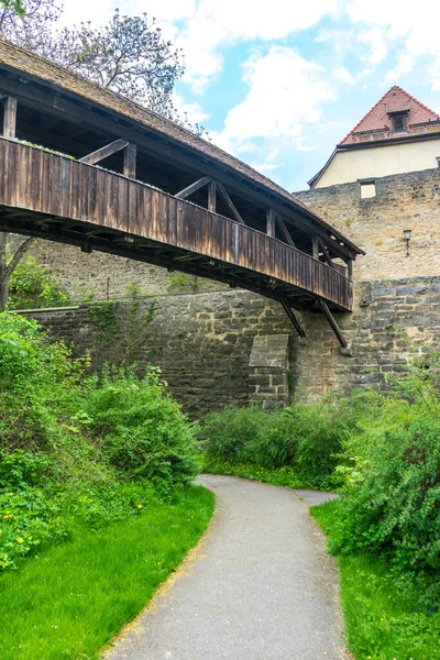
<instances>
[{"instance_id":1,"label":"bright green grass along the path's right edge","mask_svg":"<svg viewBox=\"0 0 440 660\"><path fill-rule=\"evenodd\" d=\"M338 534L338 502L310 509L328 538ZM389 566L373 557L339 557L349 647L356 660L438 660L440 613L414 610Z\"/></svg>"}]
</instances>

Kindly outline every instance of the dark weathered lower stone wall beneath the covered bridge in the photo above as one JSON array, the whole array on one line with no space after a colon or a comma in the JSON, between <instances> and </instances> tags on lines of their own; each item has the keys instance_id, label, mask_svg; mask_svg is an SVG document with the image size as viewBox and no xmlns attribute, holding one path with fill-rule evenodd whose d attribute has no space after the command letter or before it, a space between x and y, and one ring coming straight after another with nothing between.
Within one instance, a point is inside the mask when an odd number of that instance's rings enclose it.
<instances>
[{"instance_id":1,"label":"dark weathered lower stone wall beneath the covered bridge","mask_svg":"<svg viewBox=\"0 0 440 660\"><path fill-rule=\"evenodd\" d=\"M355 386L378 386L387 374L405 373L414 349L439 346L440 277L366 282L356 286L352 315L338 321L352 346L342 355L320 314L302 314L308 339L299 342L280 305L248 292L160 296L139 351L139 363L157 364L175 396L194 415L245 404L255 393L250 356L255 337L289 334L292 393L307 400ZM143 304L143 314L151 300ZM127 319L127 305L118 308ZM78 352L91 349L96 366L121 356L121 339L97 349L97 330L87 307L35 311L55 334L70 340ZM286 358L287 360L287 358ZM287 376L287 373L290 375ZM264 392L261 392L264 395Z\"/></svg>"}]
</instances>

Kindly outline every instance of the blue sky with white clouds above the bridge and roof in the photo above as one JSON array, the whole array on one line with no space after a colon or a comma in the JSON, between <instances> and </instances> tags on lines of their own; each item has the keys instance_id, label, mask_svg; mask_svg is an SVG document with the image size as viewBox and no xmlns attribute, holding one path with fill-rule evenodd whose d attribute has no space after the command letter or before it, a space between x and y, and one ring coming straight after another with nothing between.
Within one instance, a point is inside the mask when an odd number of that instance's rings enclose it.
<instances>
[{"instance_id":1,"label":"blue sky with white clouds above the bridge and roof","mask_svg":"<svg viewBox=\"0 0 440 660\"><path fill-rule=\"evenodd\" d=\"M440 113L438 0L65 0L62 22L116 7L183 50L180 113L289 191L393 85Z\"/></svg>"}]
</instances>

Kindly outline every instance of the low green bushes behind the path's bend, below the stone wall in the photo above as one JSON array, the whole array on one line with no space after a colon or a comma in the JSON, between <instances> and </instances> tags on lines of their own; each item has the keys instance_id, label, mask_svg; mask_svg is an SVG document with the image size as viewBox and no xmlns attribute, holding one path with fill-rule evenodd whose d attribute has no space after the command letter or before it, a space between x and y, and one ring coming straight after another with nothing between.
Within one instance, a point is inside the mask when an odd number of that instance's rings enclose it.
<instances>
[{"instance_id":1,"label":"low green bushes behind the path's bend, below the stone wall","mask_svg":"<svg viewBox=\"0 0 440 660\"><path fill-rule=\"evenodd\" d=\"M342 442L355 425L349 404L329 399L274 411L229 407L208 415L202 432L209 461L292 468L305 486L331 488L340 481Z\"/></svg>"}]
</instances>

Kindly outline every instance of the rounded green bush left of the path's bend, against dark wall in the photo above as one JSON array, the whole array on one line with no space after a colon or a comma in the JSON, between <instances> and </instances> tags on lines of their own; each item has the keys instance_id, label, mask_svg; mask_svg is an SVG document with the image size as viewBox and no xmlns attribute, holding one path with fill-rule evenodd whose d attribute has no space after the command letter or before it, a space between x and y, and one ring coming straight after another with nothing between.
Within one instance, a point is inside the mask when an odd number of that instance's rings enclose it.
<instances>
[{"instance_id":1,"label":"rounded green bush left of the path's bend, against dark wall","mask_svg":"<svg viewBox=\"0 0 440 660\"><path fill-rule=\"evenodd\" d=\"M165 394L157 369L150 367L142 380L132 370L107 370L84 410L89 431L124 479L169 486L197 475L195 426Z\"/></svg>"}]
</instances>

